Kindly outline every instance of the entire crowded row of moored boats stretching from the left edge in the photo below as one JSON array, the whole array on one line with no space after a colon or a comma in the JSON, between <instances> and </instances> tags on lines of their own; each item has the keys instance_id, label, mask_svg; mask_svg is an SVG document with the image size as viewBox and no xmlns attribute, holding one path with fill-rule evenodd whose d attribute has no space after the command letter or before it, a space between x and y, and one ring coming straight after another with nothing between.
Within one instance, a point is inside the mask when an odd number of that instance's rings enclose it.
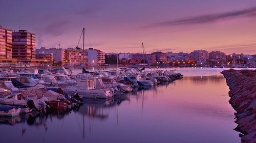
<instances>
[{"instance_id":1,"label":"entire crowded row of moored boats stretching from the left edge","mask_svg":"<svg viewBox=\"0 0 256 143\"><path fill-rule=\"evenodd\" d=\"M175 70L121 68L86 71L72 76L65 68L44 70L2 70L0 73L0 116L45 111L47 108L72 108L82 98L105 98L129 93L134 88L151 87L182 78Z\"/></svg>"}]
</instances>

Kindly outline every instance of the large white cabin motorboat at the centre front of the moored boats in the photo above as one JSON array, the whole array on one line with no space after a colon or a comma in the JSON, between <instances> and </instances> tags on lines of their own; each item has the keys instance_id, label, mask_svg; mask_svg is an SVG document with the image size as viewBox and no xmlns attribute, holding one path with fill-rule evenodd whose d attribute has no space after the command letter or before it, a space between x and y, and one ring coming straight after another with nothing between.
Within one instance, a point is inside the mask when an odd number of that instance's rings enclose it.
<instances>
[{"instance_id":1,"label":"large white cabin motorboat at the centre front of the moored boats","mask_svg":"<svg viewBox=\"0 0 256 143\"><path fill-rule=\"evenodd\" d=\"M68 94L77 92L83 98L111 98L113 96L108 89L96 89L96 82L93 78L78 81L76 85L66 87L63 91Z\"/></svg>"}]
</instances>

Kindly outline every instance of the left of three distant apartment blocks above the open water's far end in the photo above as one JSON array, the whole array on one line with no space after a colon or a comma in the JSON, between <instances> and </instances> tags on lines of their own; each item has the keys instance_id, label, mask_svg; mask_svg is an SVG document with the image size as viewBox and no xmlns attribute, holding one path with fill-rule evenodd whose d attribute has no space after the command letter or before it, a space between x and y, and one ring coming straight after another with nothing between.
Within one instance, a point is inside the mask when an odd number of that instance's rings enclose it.
<instances>
[{"instance_id":1,"label":"left of three distant apartment blocks above the open water's far end","mask_svg":"<svg viewBox=\"0 0 256 143\"><path fill-rule=\"evenodd\" d=\"M188 53L184 52L167 52L167 62L188 62L189 56Z\"/></svg>"}]
</instances>

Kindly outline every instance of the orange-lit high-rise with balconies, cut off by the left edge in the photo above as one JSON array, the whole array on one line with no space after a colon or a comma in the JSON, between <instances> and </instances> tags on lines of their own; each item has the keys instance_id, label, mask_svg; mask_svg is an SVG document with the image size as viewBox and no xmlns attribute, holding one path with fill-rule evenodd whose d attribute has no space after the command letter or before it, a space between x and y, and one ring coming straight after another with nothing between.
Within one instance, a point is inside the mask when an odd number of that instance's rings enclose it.
<instances>
[{"instance_id":1,"label":"orange-lit high-rise with balconies, cut off by the left edge","mask_svg":"<svg viewBox=\"0 0 256 143\"><path fill-rule=\"evenodd\" d=\"M12 30L0 25L0 62L12 61Z\"/></svg>"}]
</instances>

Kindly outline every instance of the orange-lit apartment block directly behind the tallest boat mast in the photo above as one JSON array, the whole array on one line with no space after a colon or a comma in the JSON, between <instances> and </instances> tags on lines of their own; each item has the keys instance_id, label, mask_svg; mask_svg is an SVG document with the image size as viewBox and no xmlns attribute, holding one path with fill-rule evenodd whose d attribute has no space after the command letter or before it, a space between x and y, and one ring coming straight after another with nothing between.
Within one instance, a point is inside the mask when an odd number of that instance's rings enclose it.
<instances>
[{"instance_id":1,"label":"orange-lit apartment block directly behind the tallest boat mast","mask_svg":"<svg viewBox=\"0 0 256 143\"><path fill-rule=\"evenodd\" d=\"M65 50L65 63L70 65L87 64L88 52L81 49L67 48Z\"/></svg>"}]
</instances>

